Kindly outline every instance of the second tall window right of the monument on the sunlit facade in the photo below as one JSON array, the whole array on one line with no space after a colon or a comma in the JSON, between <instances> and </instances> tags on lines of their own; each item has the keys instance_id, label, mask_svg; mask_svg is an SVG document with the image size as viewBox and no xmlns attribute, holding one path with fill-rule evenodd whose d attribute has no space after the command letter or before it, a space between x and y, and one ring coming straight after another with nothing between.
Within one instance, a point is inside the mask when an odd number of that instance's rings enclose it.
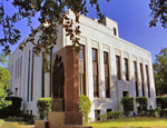
<instances>
[{"instance_id":1,"label":"second tall window right of the monument on the sunlit facade","mask_svg":"<svg viewBox=\"0 0 167 128\"><path fill-rule=\"evenodd\" d=\"M94 97L99 97L97 49L92 49L92 76L94 76Z\"/></svg>"}]
</instances>

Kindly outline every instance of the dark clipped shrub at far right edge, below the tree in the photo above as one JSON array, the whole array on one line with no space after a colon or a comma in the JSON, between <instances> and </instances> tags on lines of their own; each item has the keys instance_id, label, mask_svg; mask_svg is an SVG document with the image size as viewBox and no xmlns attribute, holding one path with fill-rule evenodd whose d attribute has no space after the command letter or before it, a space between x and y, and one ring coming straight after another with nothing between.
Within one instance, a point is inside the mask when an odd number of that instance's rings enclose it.
<instances>
[{"instance_id":1,"label":"dark clipped shrub at far right edge, below the tree","mask_svg":"<svg viewBox=\"0 0 167 128\"><path fill-rule=\"evenodd\" d=\"M161 109L167 108L167 97L157 97L156 102L157 107L160 107Z\"/></svg>"}]
</instances>

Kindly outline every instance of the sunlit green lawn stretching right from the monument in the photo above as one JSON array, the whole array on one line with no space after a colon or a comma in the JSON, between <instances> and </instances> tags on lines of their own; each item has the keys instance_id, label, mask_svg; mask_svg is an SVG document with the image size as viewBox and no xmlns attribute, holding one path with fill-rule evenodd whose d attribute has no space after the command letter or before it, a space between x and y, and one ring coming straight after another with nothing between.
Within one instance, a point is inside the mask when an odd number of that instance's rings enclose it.
<instances>
[{"instance_id":1,"label":"sunlit green lawn stretching right from the monument","mask_svg":"<svg viewBox=\"0 0 167 128\"><path fill-rule=\"evenodd\" d=\"M151 117L134 117L118 120L110 120L106 122L87 124L94 128L111 128L111 127L166 127L167 118L151 118Z\"/></svg>"}]
</instances>

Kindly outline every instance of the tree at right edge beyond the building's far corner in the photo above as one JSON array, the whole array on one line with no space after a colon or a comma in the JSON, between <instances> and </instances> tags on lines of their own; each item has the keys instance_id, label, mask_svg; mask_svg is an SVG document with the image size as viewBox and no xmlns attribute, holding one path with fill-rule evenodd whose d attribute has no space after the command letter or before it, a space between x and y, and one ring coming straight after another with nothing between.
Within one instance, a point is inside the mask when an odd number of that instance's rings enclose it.
<instances>
[{"instance_id":1,"label":"tree at right edge beyond the building's far corner","mask_svg":"<svg viewBox=\"0 0 167 128\"><path fill-rule=\"evenodd\" d=\"M167 93L167 48L161 49L156 55L154 75L157 96Z\"/></svg>"}]
</instances>

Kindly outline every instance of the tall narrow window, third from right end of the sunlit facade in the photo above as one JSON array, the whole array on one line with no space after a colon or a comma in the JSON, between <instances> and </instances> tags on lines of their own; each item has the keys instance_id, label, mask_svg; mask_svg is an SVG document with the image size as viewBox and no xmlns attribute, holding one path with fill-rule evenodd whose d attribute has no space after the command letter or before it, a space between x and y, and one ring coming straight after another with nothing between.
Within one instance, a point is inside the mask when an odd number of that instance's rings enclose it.
<instances>
[{"instance_id":1,"label":"tall narrow window, third from right end of the sunlit facade","mask_svg":"<svg viewBox=\"0 0 167 128\"><path fill-rule=\"evenodd\" d=\"M136 97L138 97L138 76L137 76L137 62L134 61L134 81L135 81L135 87L136 87Z\"/></svg>"}]
</instances>

